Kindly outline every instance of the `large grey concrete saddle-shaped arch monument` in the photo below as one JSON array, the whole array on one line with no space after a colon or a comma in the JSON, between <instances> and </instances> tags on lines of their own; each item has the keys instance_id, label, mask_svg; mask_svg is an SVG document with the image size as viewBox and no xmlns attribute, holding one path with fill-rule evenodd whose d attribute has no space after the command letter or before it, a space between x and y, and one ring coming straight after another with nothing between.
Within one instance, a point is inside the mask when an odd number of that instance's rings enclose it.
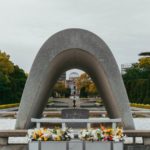
<instances>
[{"instance_id":1,"label":"large grey concrete saddle-shaped arch monument","mask_svg":"<svg viewBox=\"0 0 150 150\"><path fill-rule=\"evenodd\" d=\"M78 68L95 82L110 118L122 118L125 129L134 129L129 100L116 60L105 42L83 29L66 29L51 36L39 50L27 79L16 129L27 129L39 118L59 75Z\"/></svg>"}]
</instances>

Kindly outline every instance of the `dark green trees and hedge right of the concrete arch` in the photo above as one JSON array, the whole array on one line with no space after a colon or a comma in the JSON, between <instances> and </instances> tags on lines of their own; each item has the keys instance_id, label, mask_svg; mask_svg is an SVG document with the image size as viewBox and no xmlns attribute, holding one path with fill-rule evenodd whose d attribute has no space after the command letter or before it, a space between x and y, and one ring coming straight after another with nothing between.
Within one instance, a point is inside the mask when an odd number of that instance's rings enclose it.
<instances>
[{"instance_id":1,"label":"dark green trees and hedge right of the concrete arch","mask_svg":"<svg viewBox=\"0 0 150 150\"><path fill-rule=\"evenodd\" d=\"M150 64L149 59L141 58L123 75L130 102L150 104Z\"/></svg>"}]
</instances>

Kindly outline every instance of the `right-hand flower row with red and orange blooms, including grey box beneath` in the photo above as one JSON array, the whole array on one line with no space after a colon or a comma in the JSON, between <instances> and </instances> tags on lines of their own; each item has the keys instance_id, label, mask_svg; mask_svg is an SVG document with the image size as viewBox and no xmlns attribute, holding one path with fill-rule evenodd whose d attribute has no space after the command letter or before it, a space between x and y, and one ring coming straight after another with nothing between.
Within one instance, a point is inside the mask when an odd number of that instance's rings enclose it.
<instances>
[{"instance_id":1,"label":"right-hand flower row with red and orange blooms, including grey box beneath","mask_svg":"<svg viewBox=\"0 0 150 150\"><path fill-rule=\"evenodd\" d=\"M123 150L123 131L121 128L83 129L79 133L79 139L84 141L85 149L91 150Z\"/></svg>"}]
</instances>

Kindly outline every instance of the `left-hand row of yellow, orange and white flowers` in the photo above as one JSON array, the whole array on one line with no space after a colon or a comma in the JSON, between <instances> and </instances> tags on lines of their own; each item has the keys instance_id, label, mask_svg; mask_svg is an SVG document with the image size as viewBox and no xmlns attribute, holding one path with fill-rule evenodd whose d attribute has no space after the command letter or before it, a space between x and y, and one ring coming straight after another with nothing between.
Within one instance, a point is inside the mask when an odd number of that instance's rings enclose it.
<instances>
[{"instance_id":1,"label":"left-hand row of yellow, orange and white flowers","mask_svg":"<svg viewBox=\"0 0 150 150\"><path fill-rule=\"evenodd\" d=\"M69 129L40 128L28 131L30 141L69 141L73 138Z\"/></svg>"}]
</instances>

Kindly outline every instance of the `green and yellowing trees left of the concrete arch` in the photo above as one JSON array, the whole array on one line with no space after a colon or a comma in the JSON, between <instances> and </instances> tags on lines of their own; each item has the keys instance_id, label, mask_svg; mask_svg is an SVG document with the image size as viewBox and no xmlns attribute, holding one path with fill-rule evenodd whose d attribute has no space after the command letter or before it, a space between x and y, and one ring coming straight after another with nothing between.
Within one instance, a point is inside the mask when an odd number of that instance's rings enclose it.
<instances>
[{"instance_id":1,"label":"green and yellowing trees left of the concrete arch","mask_svg":"<svg viewBox=\"0 0 150 150\"><path fill-rule=\"evenodd\" d=\"M9 58L0 51L0 104L18 103L27 79L25 72Z\"/></svg>"}]
</instances>

